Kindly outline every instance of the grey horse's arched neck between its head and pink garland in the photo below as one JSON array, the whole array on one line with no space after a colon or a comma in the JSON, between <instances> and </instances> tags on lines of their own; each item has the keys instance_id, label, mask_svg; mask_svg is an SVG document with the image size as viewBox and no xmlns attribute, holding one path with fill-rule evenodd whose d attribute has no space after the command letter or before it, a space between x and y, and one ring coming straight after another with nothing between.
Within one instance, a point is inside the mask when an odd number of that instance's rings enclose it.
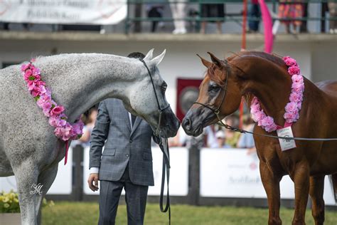
<instances>
[{"instance_id":1,"label":"grey horse's arched neck between its head and pink garland","mask_svg":"<svg viewBox=\"0 0 337 225\"><path fill-rule=\"evenodd\" d=\"M37 61L56 103L70 122L105 98L127 100L125 86L137 79L137 63L102 54L69 54ZM138 74L139 75L139 74ZM44 79L44 78L43 78Z\"/></svg>"}]
</instances>

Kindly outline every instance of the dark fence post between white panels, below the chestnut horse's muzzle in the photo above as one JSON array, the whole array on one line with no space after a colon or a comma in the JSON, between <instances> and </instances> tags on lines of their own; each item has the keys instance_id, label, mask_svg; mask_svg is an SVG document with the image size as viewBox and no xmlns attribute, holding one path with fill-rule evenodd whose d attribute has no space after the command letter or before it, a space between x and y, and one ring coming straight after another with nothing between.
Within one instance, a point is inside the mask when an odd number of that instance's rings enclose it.
<instances>
[{"instance_id":1,"label":"dark fence post between white panels, below the chestnut horse's muzzle","mask_svg":"<svg viewBox=\"0 0 337 225\"><path fill-rule=\"evenodd\" d=\"M200 150L204 135L191 137L188 148L188 203L199 205L200 198Z\"/></svg>"}]
</instances>

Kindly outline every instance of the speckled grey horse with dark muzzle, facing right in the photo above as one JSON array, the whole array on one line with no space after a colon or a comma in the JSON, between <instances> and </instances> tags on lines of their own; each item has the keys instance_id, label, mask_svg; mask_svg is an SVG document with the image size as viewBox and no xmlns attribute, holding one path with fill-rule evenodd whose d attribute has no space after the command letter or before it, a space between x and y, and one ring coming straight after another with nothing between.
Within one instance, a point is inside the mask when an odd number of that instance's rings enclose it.
<instances>
[{"instance_id":1,"label":"speckled grey horse with dark muzzle, facing right","mask_svg":"<svg viewBox=\"0 0 337 225\"><path fill-rule=\"evenodd\" d=\"M149 67L154 87L144 63L134 58L98 53L61 54L38 57L33 64L41 69L42 80L52 90L53 100L65 108L68 121L106 98L119 98L134 115L149 122L161 137L173 137L180 123L170 107L166 108L166 83L158 64L165 56L144 62ZM15 175L22 224L37 224L43 195L48 192L58 172L58 162L65 157L65 142L58 140L48 118L26 87L20 65L0 70L0 176ZM159 99L161 113L159 120ZM159 121L160 125L159 125ZM42 194L31 194L41 184Z\"/></svg>"}]
</instances>

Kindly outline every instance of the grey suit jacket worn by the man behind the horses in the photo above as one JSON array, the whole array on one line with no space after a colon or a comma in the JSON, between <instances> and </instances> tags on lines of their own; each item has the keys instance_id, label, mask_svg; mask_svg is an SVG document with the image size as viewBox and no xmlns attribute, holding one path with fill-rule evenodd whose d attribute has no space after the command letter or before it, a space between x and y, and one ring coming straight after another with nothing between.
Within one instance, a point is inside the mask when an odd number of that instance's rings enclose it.
<instances>
[{"instance_id":1,"label":"grey suit jacket worn by the man behind the horses","mask_svg":"<svg viewBox=\"0 0 337 225\"><path fill-rule=\"evenodd\" d=\"M103 100L91 134L89 168L100 168L100 180L118 181L129 163L133 184L153 186L152 135L151 127L140 117L131 129L122 100Z\"/></svg>"}]
</instances>

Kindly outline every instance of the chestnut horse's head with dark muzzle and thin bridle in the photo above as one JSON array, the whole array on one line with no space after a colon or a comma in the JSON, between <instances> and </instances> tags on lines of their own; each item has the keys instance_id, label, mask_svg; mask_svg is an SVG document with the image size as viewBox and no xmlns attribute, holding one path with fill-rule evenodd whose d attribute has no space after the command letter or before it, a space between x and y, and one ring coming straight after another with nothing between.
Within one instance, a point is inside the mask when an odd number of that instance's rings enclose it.
<instances>
[{"instance_id":1,"label":"chestnut horse's head with dark muzzle and thin bridle","mask_svg":"<svg viewBox=\"0 0 337 225\"><path fill-rule=\"evenodd\" d=\"M182 122L183 130L188 135L200 135L203 127L218 122L216 113L222 119L240 106L240 78L235 75L237 68L231 67L226 60L221 61L212 53L208 54L212 62L199 56L208 70L200 85L198 100L188 110Z\"/></svg>"}]
</instances>

